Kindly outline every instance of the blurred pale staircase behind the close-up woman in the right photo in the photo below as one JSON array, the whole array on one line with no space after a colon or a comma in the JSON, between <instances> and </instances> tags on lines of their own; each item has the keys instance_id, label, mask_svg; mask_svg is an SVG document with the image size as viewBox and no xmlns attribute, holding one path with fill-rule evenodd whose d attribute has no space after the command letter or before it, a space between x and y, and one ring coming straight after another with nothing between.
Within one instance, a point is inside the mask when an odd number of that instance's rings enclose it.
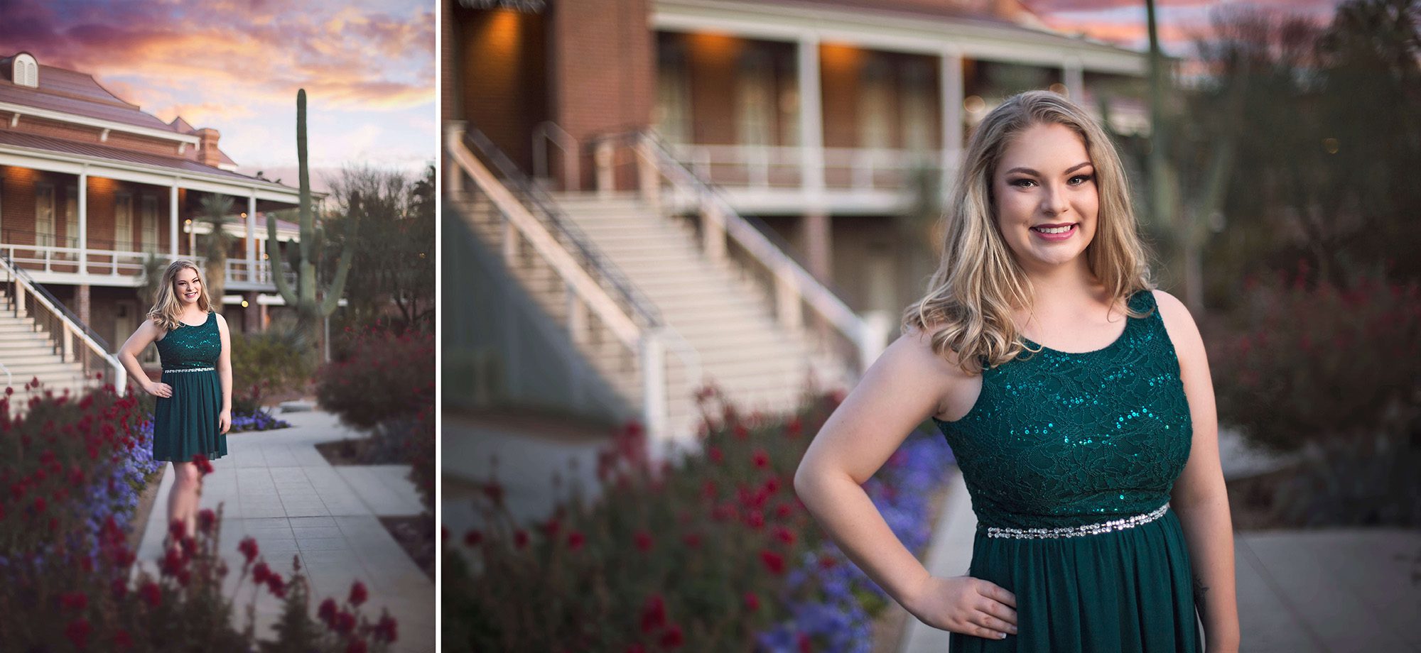
<instances>
[{"instance_id":1,"label":"blurred pale staircase behind the close-up woman in the right photo","mask_svg":"<svg viewBox=\"0 0 1421 653\"><path fill-rule=\"evenodd\" d=\"M662 217L632 193L554 193L554 199L695 351L705 382L715 383L742 413L793 409L810 373L820 388L847 383L844 363L816 353L803 332L783 328L769 300L733 264L712 263L701 253L689 221ZM490 247L502 246L500 219L486 197L455 200L455 207ZM567 324L566 292L551 268L531 254L517 257L510 268L544 311ZM627 365L624 349L595 342L580 349L620 393L639 402L639 373ZM695 379L674 351L665 358L669 424L676 433L693 433L699 424Z\"/></svg>"}]
</instances>

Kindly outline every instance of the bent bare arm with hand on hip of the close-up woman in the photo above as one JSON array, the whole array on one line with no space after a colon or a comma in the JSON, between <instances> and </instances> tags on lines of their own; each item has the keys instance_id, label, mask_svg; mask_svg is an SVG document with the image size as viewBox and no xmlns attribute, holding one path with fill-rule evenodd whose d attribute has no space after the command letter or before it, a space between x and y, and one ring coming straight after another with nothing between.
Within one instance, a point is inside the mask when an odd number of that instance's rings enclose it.
<instances>
[{"instance_id":1,"label":"bent bare arm with hand on hip of the close-up woman","mask_svg":"<svg viewBox=\"0 0 1421 653\"><path fill-rule=\"evenodd\" d=\"M899 336L824 422L794 474L794 491L838 548L914 616L1000 639L1015 632L1015 596L968 576L934 578L861 487L963 376L932 355L926 336Z\"/></svg>"}]
</instances>

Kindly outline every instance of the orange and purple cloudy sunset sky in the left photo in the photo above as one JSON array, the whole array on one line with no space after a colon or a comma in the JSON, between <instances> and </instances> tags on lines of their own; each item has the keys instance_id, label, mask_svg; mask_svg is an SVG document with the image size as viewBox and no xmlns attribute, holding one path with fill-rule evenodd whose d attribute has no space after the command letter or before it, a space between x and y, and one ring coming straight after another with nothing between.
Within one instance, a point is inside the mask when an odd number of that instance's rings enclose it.
<instances>
[{"instance_id":1,"label":"orange and purple cloudy sunset sky in the left photo","mask_svg":"<svg viewBox=\"0 0 1421 653\"><path fill-rule=\"evenodd\" d=\"M215 128L243 173L296 185L298 88L313 168L419 172L438 153L433 0L0 0L0 57Z\"/></svg>"}]
</instances>

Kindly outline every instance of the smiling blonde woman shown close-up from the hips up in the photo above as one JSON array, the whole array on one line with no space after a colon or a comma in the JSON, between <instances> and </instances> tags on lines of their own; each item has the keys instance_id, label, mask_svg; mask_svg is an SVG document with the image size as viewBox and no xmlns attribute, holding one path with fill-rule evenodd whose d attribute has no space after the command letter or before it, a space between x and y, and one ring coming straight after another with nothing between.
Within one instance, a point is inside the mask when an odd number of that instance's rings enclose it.
<instances>
[{"instance_id":1,"label":"smiling blonde woman shown close-up from the hips up","mask_svg":"<svg viewBox=\"0 0 1421 653\"><path fill-rule=\"evenodd\" d=\"M794 478L843 551L962 652L1236 652L1233 537L1208 359L1152 290L1120 158L1056 94L993 109L902 335ZM935 578L860 488L926 419L978 529Z\"/></svg>"}]
</instances>

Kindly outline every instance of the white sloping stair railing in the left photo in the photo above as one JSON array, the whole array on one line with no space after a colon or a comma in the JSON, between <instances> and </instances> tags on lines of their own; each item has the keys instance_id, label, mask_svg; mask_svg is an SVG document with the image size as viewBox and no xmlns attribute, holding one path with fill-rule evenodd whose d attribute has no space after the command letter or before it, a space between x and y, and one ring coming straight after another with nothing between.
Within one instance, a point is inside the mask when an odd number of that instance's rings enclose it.
<instances>
[{"instance_id":1,"label":"white sloping stair railing in the left photo","mask_svg":"<svg viewBox=\"0 0 1421 653\"><path fill-rule=\"evenodd\" d=\"M108 353L108 344L87 324L78 321L43 285L36 284L23 268L7 257L0 257L0 282L11 285L13 307L17 317L30 317L54 341L55 353L65 362L78 362L85 375L112 371L114 388L124 393L128 373L118 358ZM105 371L107 372L107 371Z\"/></svg>"}]
</instances>

